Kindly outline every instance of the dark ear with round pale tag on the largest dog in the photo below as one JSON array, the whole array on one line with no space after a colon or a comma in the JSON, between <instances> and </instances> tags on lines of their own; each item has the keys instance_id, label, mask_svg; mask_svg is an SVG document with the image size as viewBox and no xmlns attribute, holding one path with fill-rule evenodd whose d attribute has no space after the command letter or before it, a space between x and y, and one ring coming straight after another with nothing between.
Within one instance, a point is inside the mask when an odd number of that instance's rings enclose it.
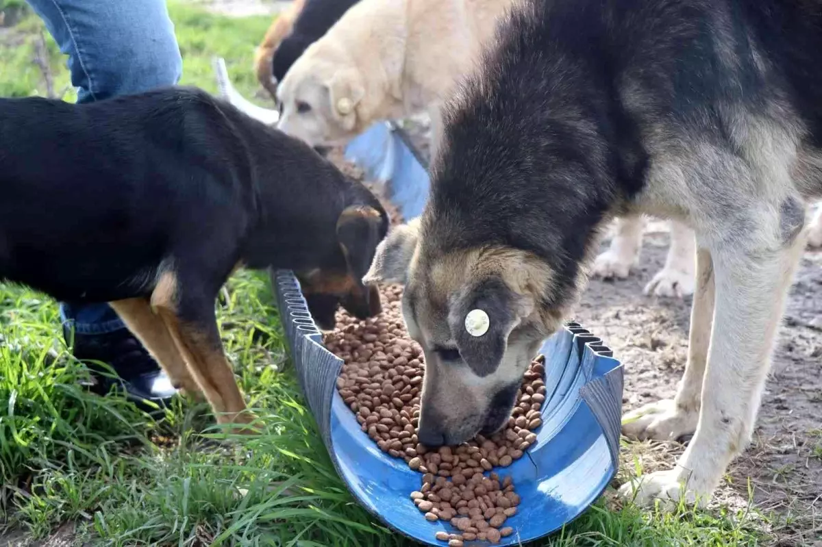
<instances>
[{"instance_id":1,"label":"dark ear with round pale tag on the largest dog","mask_svg":"<svg viewBox=\"0 0 822 547\"><path fill-rule=\"evenodd\" d=\"M448 323L459 355L474 374L492 374L508 347L508 335L533 310L533 300L516 294L499 277L476 283L452 301Z\"/></svg>"}]
</instances>

